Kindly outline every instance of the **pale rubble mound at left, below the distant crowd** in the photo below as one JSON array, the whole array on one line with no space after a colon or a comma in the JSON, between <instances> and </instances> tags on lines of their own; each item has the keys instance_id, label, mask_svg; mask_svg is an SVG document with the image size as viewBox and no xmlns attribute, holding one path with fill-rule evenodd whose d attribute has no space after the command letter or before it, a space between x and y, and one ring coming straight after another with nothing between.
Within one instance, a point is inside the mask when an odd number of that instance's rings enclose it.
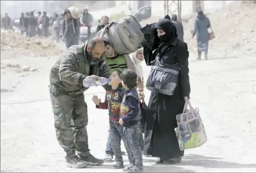
<instances>
[{"instance_id":1,"label":"pale rubble mound at left, below the distant crowd","mask_svg":"<svg viewBox=\"0 0 256 173\"><path fill-rule=\"evenodd\" d=\"M29 38L13 30L1 30L1 53L3 52L45 57L58 55L62 49L50 38Z\"/></svg>"}]
</instances>

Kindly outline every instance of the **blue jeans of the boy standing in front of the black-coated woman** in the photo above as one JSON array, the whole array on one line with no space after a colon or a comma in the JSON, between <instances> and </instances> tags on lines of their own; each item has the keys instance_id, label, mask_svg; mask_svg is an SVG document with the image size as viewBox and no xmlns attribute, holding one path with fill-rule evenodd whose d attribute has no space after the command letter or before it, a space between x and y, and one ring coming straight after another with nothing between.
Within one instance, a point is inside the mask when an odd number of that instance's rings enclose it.
<instances>
[{"instance_id":1,"label":"blue jeans of the boy standing in front of the black-coated woman","mask_svg":"<svg viewBox=\"0 0 256 173\"><path fill-rule=\"evenodd\" d=\"M143 169L142 146L141 146L141 127L137 124L132 127L124 127L124 145L131 165Z\"/></svg>"}]
</instances>

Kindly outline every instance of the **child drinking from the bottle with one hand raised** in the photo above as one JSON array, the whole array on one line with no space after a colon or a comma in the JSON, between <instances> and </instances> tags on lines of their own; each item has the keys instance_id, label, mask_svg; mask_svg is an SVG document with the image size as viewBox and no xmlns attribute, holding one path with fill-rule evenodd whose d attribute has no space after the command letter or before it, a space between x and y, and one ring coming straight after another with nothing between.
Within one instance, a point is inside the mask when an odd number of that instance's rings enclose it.
<instances>
[{"instance_id":1,"label":"child drinking from the bottle with one hand raised","mask_svg":"<svg viewBox=\"0 0 256 173\"><path fill-rule=\"evenodd\" d=\"M124 96L124 89L121 85L121 71L115 70L110 75L109 89L105 95L105 102L102 103L97 96L92 97L92 101L96 104L98 109L109 110L109 125L111 147L115 155L116 164L114 169L124 168L124 161L121 153L121 138L123 137L124 127L118 123L120 116L120 105Z\"/></svg>"}]
</instances>

